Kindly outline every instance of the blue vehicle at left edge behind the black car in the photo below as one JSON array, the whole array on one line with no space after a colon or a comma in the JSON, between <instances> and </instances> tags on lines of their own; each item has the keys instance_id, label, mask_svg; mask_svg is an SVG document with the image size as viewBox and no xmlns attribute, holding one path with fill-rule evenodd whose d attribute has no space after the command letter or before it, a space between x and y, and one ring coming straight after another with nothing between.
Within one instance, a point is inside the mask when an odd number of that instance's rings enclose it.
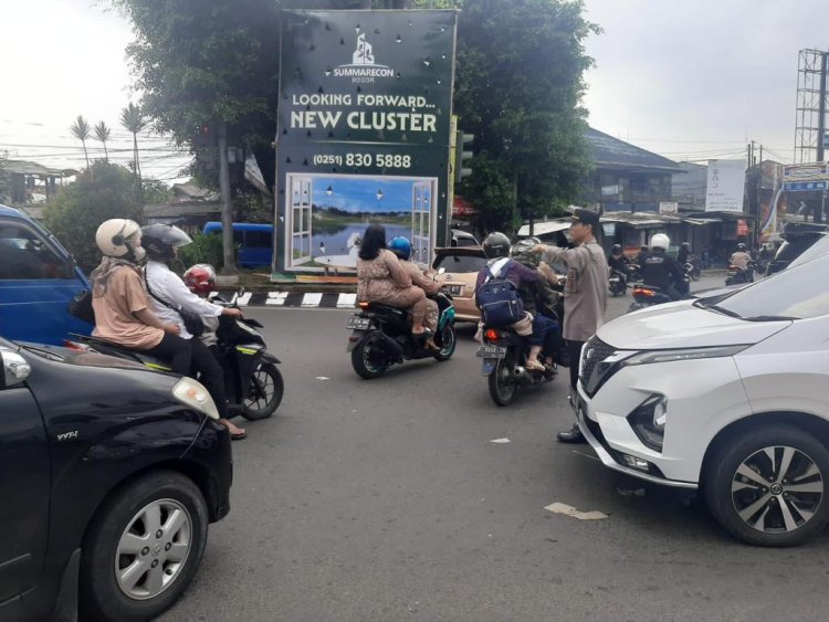
<instances>
[{"instance_id":1,"label":"blue vehicle at left edge behind the black car","mask_svg":"<svg viewBox=\"0 0 829 622\"><path fill-rule=\"evenodd\" d=\"M0 205L0 336L60 345L92 326L66 305L90 283L57 239L25 212Z\"/></svg>"}]
</instances>

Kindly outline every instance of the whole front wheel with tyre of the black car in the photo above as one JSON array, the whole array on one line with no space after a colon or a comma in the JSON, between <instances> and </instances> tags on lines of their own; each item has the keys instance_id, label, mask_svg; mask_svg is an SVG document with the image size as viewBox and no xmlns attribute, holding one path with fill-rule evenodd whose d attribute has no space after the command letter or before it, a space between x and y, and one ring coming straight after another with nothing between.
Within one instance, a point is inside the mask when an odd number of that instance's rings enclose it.
<instances>
[{"instance_id":1,"label":"whole front wheel with tyre of the black car","mask_svg":"<svg viewBox=\"0 0 829 622\"><path fill-rule=\"evenodd\" d=\"M208 512L188 477L158 471L107 499L81 558L81 619L133 622L160 615L190 583L204 552Z\"/></svg>"}]
</instances>

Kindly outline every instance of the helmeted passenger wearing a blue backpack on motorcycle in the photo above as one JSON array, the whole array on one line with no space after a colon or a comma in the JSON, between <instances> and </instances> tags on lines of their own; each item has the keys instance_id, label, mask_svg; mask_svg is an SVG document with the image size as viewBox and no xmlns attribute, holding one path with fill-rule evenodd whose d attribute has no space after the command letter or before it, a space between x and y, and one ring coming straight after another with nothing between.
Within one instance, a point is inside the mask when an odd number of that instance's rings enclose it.
<instances>
[{"instance_id":1,"label":"helmeted passenger wearing a blue backpack on motorcycle","mask_svg":"<svg viewBox=\"0 0 829 622\"><path fill-rule=\"evenodd\" d=\"M510 259L510 239L503 233L490 233L483 241L483 251L489 261L486 262L486 267L478 273L475 292L478 292L481 285L491 278L491 274L499 278L512 281L520 292L523 286L535 284L544 278L542 273L537 270L529 268ZM526 369L544 371L544 363L538 360L538 355L541 354L544 344L546 321L539 323L537 325L538 328L536 328L534 319L534 316L525 310L524 317L512 325L512 328L518 335L531 337ZM526 330L524 326L529 327L529 330Z\"/></svg>"}]
</instances>

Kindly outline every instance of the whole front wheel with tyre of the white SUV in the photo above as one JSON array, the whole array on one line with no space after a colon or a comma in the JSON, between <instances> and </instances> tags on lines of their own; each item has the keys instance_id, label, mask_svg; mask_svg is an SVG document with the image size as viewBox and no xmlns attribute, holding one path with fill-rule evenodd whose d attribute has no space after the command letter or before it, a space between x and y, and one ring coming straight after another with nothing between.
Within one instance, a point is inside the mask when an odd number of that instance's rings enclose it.
<instances>
[{"instance_id":1,"label":"whole front wheel with tyre of the white SUV","mask_svg":"<svg viewBox=\"0 0 829 622\"><path fill-rule=\"evenodd\" d=\"M800 545L829 523L829 451L775 425L726 443L710 458L705 497L717 521L751 545Z\"/></svg>"}]
</instances>

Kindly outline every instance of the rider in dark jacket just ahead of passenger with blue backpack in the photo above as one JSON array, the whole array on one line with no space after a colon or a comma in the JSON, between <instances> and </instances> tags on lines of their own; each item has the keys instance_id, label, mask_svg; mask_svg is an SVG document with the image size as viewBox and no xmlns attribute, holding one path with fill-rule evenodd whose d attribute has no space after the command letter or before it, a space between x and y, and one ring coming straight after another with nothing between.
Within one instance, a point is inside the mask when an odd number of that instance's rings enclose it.
<instances>
[{"instance_id":1,"label":"rider in dark jacket just ahead of passenger with blue backpack","mask_svg":"<svg viewBox=\"0 0 829 622\"><path fill-rule=\"evenodd\" d=\"M538 253L534 249L542 241L537 238L526 238L513 244L510 250L510 256L520 264L531 268L538 270L545 275L534 283L522 283L518 286L524 310L533 315L533 335L529 337L529 344L535 345L539 339L542 352L544 355L544 365L552 368L554 358L562 348L560 330L557 328L556 307L558 306L558 295L550 287L550 282L546 277L546 270L542 265ZM553 275L555 280L555 275ZM560 326L560 323L558 324Z\"/></svg>"}]
</instances>

